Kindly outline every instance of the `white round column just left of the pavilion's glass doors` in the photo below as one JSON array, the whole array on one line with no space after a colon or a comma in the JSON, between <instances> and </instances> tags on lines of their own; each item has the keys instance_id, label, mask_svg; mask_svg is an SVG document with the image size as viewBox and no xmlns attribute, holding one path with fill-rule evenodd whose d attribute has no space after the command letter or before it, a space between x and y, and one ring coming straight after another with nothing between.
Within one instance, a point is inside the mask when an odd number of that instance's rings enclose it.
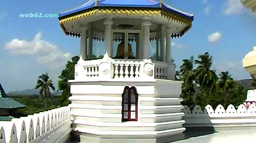
<instances>
[{"instance_id":1,"label":"white round column just left of the pavilion's glass doors","mask_svg":"<svg viewBox=\"0 0 256 143\"><path fill-rule=\"evenodd\" d=\"M111 29L112 29L112 25L113 25L113 21L111 19L106 19L104 21L104 25L105 25L105 51L108 51L108 55L109 57L112 57L112 33L111 33ZM104 51L104 52L105 52Z\"/></svg>"}]
</instances>

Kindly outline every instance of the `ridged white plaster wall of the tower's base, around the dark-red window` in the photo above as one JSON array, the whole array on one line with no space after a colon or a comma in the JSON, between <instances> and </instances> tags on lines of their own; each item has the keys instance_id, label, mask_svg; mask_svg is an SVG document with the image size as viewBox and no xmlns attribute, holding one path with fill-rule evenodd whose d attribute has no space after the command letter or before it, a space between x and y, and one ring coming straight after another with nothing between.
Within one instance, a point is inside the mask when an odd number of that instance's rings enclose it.
<instances>
[{"instance_id":1,"label":"ridged white plaster wall of the tower's base, around the dark-red window","mask_svg":"<svg viewBox=\"0 0 256 143\"><path fill-rule=\"evenodd\" d=\"M136 87L139 94L137 122L122 123L125 86ZM73 126L81 133L100 138L122 138L124 135L135 138L145 134L157 138L181 134L185 130L179 97L181 82L73 82L70 90Z\"/></svg>"}]
</instances>

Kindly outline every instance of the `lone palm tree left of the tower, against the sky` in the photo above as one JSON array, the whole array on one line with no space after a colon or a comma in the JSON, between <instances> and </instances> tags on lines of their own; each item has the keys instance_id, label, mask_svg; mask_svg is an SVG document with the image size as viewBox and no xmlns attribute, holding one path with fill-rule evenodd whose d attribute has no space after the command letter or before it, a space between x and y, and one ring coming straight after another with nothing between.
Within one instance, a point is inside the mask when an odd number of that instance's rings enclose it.
<instances>
[{"instance_id":1,"label":"lone palm tree left of the tower, against the sky","mask_svg":"<svg viewBox=\"0 0 256 143\"><path fill-rule=\"evenodd\" d=\"M45 108L46 108L46 98L51 97L50 88L55 91L52 80L47 73L42 74L38 77L36 89L40 88L40 96L42 99L45 99Z\"/></svg>"}]
</instances>

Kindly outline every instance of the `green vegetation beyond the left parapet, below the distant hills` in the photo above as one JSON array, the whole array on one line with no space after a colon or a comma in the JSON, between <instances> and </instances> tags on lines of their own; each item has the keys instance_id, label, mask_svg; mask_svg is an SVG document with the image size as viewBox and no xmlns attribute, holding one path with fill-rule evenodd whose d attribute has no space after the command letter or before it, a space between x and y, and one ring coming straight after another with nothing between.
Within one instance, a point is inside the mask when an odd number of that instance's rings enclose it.
<instances>
[{"instance_id":1,"label":"green vegetation beyond the left parapet, below the distant hills","mask_svg":"<svg viewBox=\"0 0 256 143\"><path fill-rule=\"evenodd\" d=\"M38 96L23 95L19 97L12 97L12 99L27 106L26 108L18 109L18 114L14 116L15 118L25 117L27 115L58 108L60 105L58 97L51 97L44 100L39 99Z\"/></svg>"}]
</instances>

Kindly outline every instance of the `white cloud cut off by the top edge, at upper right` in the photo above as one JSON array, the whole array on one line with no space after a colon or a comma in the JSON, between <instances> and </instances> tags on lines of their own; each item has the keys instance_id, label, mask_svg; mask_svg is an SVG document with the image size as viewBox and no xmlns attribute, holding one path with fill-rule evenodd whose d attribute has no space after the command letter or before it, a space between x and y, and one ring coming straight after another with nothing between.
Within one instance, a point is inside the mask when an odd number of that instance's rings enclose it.
<instances>
[{"instance_id":1,"label":"white cloud cut off by the top edge, at upper right","mask_svg":"<svg viewBox=\"0 0 256 143\"><path fill-rule=\"evenodd\" d=\"M241 14L244 9L241 0L227 0L227 8L225 9L224 14Z\"/></svg>"}]
</instances>

